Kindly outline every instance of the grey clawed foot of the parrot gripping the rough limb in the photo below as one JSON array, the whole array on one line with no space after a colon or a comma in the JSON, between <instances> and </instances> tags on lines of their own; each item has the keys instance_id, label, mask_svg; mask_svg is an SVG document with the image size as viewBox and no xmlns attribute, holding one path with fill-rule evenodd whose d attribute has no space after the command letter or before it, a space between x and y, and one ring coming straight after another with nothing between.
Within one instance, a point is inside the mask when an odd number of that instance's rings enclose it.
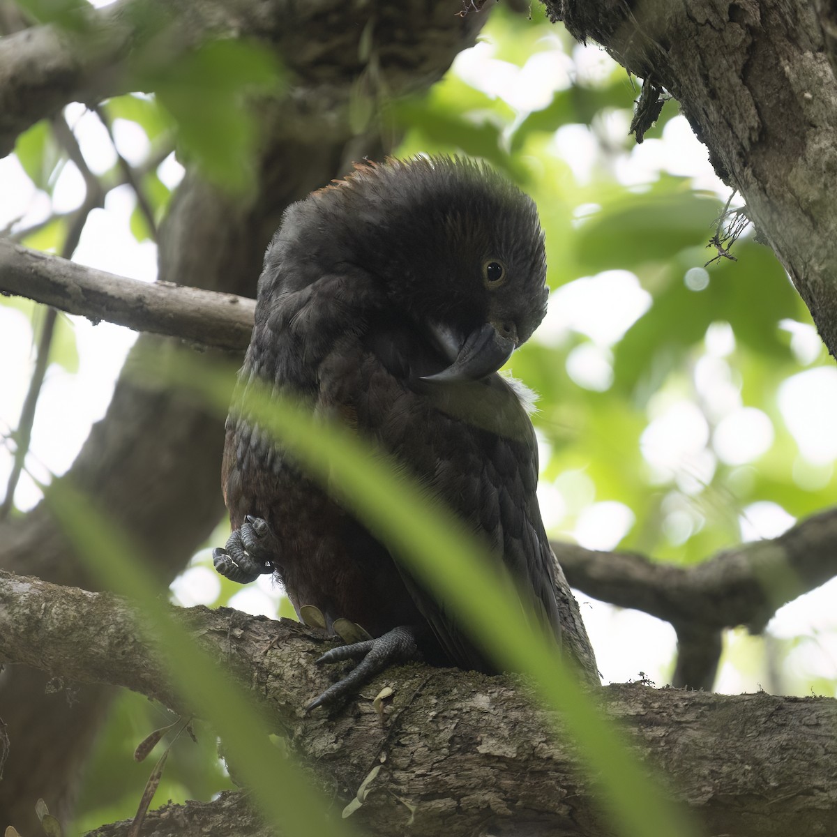
<instances>
[{"instance_id":1,"label":"grey clawed foot of the parrot gripping the rough limb","mask_svg":"<svg viewBox=\"0 0 837 837\"><path fill-rule=\"evenodd\" d=\"M409 625L399 625L398 628L393 628L375 639L365 639L362 642L332 648L326 651L317 663L336 663L340 660L360 662L342 680L329 686L321 696L311 701L306 706L306 711L351 695L390 665L421 659L421 652L416 644L416 630Z\"/></svg>"}]
</instances>

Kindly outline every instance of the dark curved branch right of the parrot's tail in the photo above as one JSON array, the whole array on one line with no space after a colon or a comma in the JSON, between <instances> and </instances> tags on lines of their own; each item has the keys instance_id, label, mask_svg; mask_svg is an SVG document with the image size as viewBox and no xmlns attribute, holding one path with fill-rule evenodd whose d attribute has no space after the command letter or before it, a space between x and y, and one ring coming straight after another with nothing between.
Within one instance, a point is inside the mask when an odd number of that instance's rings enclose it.
<instances>
[{"instance_id":1,"label":"dark curved branch right of the parrot's tail","mask_svg":"<svg viewBox=\"0 0 837 837\"><path fill-rule=\"evenodd\" d=\"M768 541L742 544L693 567L626 552L552 542L567 580L624 608L704 629L763 630L783 604L837 575L837 510L829 509Z\"/></svg>"}]
</instances>

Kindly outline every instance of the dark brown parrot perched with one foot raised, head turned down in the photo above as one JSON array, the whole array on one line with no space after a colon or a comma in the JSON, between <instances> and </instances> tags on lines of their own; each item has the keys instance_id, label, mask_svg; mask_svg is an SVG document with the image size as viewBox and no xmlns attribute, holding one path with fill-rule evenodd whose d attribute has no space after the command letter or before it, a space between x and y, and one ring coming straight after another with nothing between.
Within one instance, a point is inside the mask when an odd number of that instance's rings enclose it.
<instances>
[{"instance_id":1,"label":"dark brown parrot perched with one foot raised, head turned down","mask_svg":"<svg viewBox=\"0 0 837 837\"><path fill-rule=\"evenodd\" d=\"M258 379L393 454L505 562L560 642L526 390L497 373L542 320L545 275L534 203L489 168L357 167L286 211L239 393ZM214 552L218 572L274 572L298 614L313 605L327 629L348 619L372 637L325 655L361 662L311 706L413 657L495 671L449 605L237 413L222 482L234 532Z\"/></svg>"}]
</instances>

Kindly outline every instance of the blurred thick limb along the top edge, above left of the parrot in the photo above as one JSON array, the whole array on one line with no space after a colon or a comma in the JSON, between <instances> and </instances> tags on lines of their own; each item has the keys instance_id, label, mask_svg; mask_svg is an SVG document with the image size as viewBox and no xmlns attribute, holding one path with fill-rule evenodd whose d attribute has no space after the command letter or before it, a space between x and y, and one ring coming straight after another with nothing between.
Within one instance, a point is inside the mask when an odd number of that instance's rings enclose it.
<instances>
[{"instance_id":1,"label":"blurred thick limb along the top edge, above left of the parrot","mask_svg":"<svg viewBox=\"0 0 837 837\"><path fill-rule=\"evenodd\" d=\"M377 79L393 95L431 85L473 43L485 14L457 17L461 0L434 5L117 0L86 12L80 33L51 25L14 33L0 39L0 157L21 132L68 102L97 105L136 90L146 70L159 73L206 39L227 37L261 40L295 74L291 96L304 117L297 113L295 124L282 127L306 135L310 145L315 116L323 127L343 130L351 82L368 69L362 38Z\"/></svg>"}]
</instances>

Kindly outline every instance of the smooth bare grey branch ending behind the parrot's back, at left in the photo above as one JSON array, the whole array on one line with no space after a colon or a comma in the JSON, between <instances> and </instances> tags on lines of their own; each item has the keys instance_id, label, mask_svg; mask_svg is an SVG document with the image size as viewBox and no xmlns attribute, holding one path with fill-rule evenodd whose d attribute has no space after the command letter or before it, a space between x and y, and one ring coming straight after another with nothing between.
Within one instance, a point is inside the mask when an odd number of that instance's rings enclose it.
<instances>
[{"instance_id":1,"label":"smooth bare grey branch ending behind the parrot's back, at left","mask_svg":"<svg viewBox=\"0 0 837 837\"><path fill-rule=\"evenodd\" d=\"M26 296L69 314L135 331L243 350L254 300L94 270L0 239L0 293Z\"/></svg>"}]
</instances>

